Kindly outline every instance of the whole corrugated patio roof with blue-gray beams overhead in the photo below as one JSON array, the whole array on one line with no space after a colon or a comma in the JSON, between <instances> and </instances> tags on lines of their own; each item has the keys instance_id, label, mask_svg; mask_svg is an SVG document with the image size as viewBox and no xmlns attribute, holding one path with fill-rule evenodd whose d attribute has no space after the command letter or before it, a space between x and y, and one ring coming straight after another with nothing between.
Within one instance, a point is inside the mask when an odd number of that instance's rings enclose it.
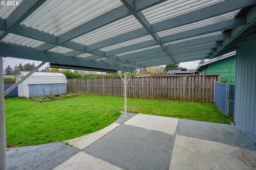
<instances>
[{"instance_id":1,"label":"whole corrugated patio roof with blue-gray beams overhead","mask_svg":"<svg viewBox=\"0 0 256 170\"><path fill-rule=\"evenodd\" d=\"M62 66L135 72L212 59L256 37L256 0L3 2L0 55Z\"/></svg>"}]
</instances>

